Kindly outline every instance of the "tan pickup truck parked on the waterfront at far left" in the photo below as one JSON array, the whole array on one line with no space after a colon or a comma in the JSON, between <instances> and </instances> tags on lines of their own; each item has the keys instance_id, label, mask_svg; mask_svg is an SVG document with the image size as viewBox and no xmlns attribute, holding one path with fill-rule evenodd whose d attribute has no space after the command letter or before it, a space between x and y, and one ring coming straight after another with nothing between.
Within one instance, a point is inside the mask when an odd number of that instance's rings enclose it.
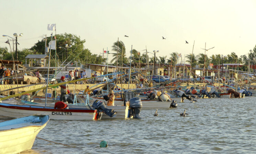
<instances>
[{"instance_id":1,"label":"tan pickup truck parked on the waterfront at far left","mask_svg":"<svg viewBox=\"0 0 256 154\"><path fill-rule=\"evenodd\" d=\"M32 72L27 73L27 75L19 75L17 74L18 77L18 82L21 83L21 81L23 82L23 84L37 84L39 82L45 82L44 77L39 73L40 79L38 77L36 77ZM16 77L13 77L13 80L15 82L16 81Z\"/></svg>"}]
</instances>

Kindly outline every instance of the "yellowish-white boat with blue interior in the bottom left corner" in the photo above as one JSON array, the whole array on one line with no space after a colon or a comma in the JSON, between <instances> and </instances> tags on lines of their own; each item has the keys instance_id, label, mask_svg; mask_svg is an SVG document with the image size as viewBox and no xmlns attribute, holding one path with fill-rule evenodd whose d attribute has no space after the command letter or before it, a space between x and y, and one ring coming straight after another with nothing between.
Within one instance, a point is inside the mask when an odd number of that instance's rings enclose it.
<instances>
[{"instance_id":1,"label":"yellowish-white boat with blue interior in the bottom left corner","mask_svg":"<svg viewBox=\"0 0 256 154\"><path fill-rule=\"evenodd\" d=\"M13 154L31 149L36 135L48 121L48 115L35 115L0 122L0 153Z\"/></svg>"}]
</instances>

